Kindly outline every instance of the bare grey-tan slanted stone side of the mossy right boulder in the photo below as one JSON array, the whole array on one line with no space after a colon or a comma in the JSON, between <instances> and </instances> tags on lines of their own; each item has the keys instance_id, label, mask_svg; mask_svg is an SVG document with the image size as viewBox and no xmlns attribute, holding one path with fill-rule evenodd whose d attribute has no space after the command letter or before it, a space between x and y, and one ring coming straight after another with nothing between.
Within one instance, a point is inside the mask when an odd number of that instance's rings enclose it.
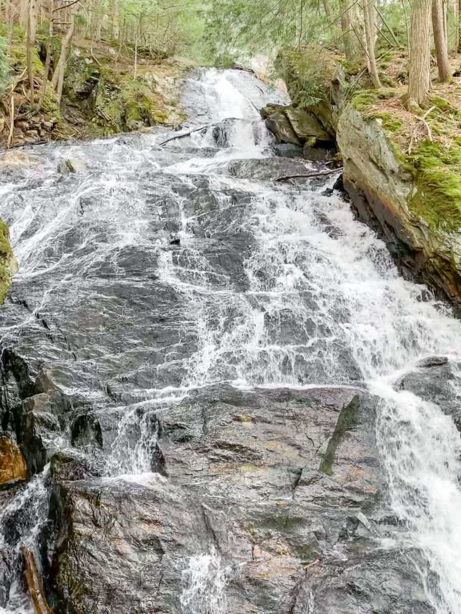
<instances>
[{"instance_id":1,"label":"bare grey-tan slanted stone side of the mossy right boulder","mask_svg":"<svg viewBox=\"0 0 461 614\"><path fill-rule=\"evenodd\" d=\"M427 282L461 306L460 233L431 228L411 211L414 181L380 120L366 119L347 104L337 126L337 144L344 186L360 218L382 232L408 277Z\"/></svg>"}]
</instances>

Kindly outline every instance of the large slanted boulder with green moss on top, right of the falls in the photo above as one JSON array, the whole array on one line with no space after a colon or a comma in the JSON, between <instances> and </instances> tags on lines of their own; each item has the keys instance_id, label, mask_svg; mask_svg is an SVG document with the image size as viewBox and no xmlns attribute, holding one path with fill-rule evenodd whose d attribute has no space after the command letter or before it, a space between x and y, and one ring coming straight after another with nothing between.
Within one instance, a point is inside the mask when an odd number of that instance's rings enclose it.
<instances>
[{"instance_id":1,"label":"large slanted boulder with green moss on top, right of the falls","mask_svg":"<svg viewBox=\"0 0 461 614\"><path fill-rule=\"evenodd\" d=\"M379 222L391 251L413 277L461 305L459 144L444 152L423 141L409 155L380 117L356 107L357 101L344 107L337 143L345 185L359 212Z\"/></svg>"}]
</instances>

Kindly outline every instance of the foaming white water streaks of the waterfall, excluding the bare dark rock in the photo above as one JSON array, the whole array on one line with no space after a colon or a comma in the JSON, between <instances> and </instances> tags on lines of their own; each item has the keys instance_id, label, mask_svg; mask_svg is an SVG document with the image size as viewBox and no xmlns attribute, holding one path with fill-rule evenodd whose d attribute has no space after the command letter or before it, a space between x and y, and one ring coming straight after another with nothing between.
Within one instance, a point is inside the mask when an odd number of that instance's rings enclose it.
<instances>
[{"instance_id":1,"label":"foaming white water streaks of the waterfall, excluding the bare dark rock","mask_svg":"<svg viewBox=\"0 0 461 614\"><path fill-rule=\"evenodd\" d=\"M100 199L100 223L111 229L111 243L98 243L95 228L90 235L84 228L73 253L48 262L46 250L76 223L76 205L64 194L59 215L43 221L40 209L46 206L46 181L37 190L36 200L28 203L10 227L22 268L19 281L39 277L47 262L48 270L54 267L62 273L57 286L47 290L50 294L75 279L85 286L96 262L116 258L118 251L130 246L152 249L146 236L148 188L136 181L114 179L149 165L153 171L165 171L183 181L187 181L186 173L206 175L220 211L231 213L219 223L227 224L229 233L251 230L254 236L254 247L244 263L243 285L213 268L210 255L197 244L190 225L203 213L183 214L177 233L180 260L164 249L163 239L154 244L159 281L173 287L187 306L187 325L197 333L198 347L183 359L159 366L161 373L179 364L184 369L179 382L153 383L149 389L136 391L141 402L120 421L107 473L146 481L157 433L152 438L146 414L138 417L144 400L155 400L161 407L193 389L222 382L241 387L366 384L380 398L377 441L390 505L408 524L408 531L399 536L406 545L425 553L427 569L421 573L436 612L458 614L460 435L441 408L409 392L396 392L393 385L423 357L443 355L460 360L461 323L443 305L421 300L427 291L398 276L384 244L353 219L349 205L339 197L226 175L230 160L267 155L267 135L258 138L258 144L254 142L254 123L257 134L264 131L249 99L257 105L260 101L248 76L237 79L229 72L209 71L201 87L205 103L208 101L208 111L201 118L204 124L226 117L245 120L235 125L232 147L213 157L199 153L187 161L149 157L149 147L165 135L143 136L137 149L114 140L103 142L101 152L101 144L95 143L58 153L88 157L96 168L108 167L97 185L91 178L82 179L74 197L87 194ZM210 147L211 130L194 133L189 140L192 146ZM178 144L173 141L174 146ZM52 168L45 171L52 176ZM11 188L2 190L8 206ZM245 190L250 196L248 217L241 217L234 206L232 190ZM123 211L120 201L128 203ZM28 234L31 219L36 220L37 230ZM93 249L85 251L88 246ZM47 300L45 292L37 311L46 308ZM98 326L95 334L103 335L104 323ZM461 398L459 389L454 388L453 394ZM186 565L183 578L184 613L227 611L227 571L216 553L198 552ZM311 611L315 612L315 595L309 603Z\"/></svg>"}]
</instances>

